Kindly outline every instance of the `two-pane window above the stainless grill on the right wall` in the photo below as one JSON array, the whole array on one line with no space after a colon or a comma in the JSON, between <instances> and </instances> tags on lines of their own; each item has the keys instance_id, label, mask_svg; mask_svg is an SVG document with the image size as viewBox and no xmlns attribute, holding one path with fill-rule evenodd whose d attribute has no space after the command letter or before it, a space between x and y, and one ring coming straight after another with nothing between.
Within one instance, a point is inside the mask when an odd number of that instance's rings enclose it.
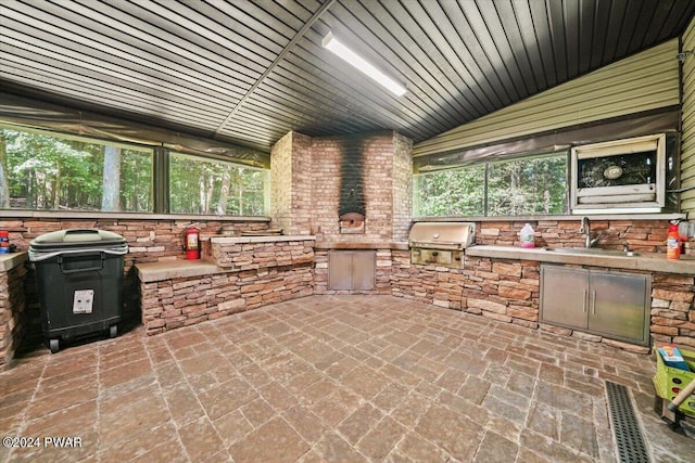
<instances>
[{"instance_id":1,"label":"two-pane window above the stainless grill on the right wall","mask_svg":"<svg viewBox=\"0 0 695 463\"><path fill-rule=\"evenodd\" d=\"M554 215L568 211L567 153L480 163L415 180L422 217Z\"/></svg>"}]
</instances>

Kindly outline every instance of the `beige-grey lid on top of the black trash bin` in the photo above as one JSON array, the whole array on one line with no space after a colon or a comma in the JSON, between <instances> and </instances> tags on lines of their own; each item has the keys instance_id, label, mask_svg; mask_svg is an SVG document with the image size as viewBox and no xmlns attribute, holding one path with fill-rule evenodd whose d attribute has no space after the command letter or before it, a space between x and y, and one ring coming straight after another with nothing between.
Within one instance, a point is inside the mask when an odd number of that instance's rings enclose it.
<instances>
[{"instance_id":1,"label":"beige-grey lid on top of the black trash bin","mask_svg":"<svg viewBox=\"0 0 695 463\"><path fill-rule=\"evenodd\" d=\"M121 249L125 244L126 240L123 236L106 230L67 229L35 237L29 243L29 250L45 253L65 249Z\"/></svg>"}]
</instances>

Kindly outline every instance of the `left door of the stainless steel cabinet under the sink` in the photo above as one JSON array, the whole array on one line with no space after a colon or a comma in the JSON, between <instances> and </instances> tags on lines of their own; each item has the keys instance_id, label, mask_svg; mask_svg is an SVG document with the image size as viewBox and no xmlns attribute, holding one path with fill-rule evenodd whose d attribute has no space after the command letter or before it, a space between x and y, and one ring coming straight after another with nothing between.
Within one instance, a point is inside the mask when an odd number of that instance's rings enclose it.
<instances>
[{"instance_id":1,"label":"left door of the stainless steel cabinet under the sink","mask_svg":"<svg viewBox=\"0 0 695 463\"><path fill-rule=\"evenodd\" d=\"M543 266L541 274L541 322L585 329L589 272Z\"/></svg>"}]
</instances>

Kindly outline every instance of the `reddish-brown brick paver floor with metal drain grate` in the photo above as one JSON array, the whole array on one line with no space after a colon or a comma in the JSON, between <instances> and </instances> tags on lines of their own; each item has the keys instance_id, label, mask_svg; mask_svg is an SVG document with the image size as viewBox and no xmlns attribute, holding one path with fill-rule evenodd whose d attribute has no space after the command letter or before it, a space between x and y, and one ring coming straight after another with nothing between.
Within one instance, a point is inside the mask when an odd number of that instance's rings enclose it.
<instances>
[{"instance_id":1,"label":"reddish-brown brick paver floor with metal drain grate","mask_svg":"<svg viewBox=\"0 0 695 463\"><path fill-rule=\"evenodd\" d=\"M0 436L30 447L0 460L615 462L607 380L629 387L655 462L692 462L695 440L653 411L653 375L650 356L586 340L312 296L30 352L0 374Z\"/></svg>"}]
</instances>

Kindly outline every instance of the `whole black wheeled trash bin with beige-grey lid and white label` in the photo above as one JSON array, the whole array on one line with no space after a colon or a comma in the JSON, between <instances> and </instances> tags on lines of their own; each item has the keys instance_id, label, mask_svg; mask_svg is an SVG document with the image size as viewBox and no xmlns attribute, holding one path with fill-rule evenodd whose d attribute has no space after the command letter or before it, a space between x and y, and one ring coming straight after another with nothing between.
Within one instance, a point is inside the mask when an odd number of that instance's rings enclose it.
<instances>
[{"instance_id":1,"label":"whole black wheeled trash bin with beige-grey lid and white label","mask_svg":"<svg viewBox=\"0 0 695 463\"><path fill-rule=\"evenodd\" d=\"M123 317L126 240L98 229L45 233L29 244L36 266L43 337L52 353L60 339L109 331Z\"/></svg>"}]
</instances>

